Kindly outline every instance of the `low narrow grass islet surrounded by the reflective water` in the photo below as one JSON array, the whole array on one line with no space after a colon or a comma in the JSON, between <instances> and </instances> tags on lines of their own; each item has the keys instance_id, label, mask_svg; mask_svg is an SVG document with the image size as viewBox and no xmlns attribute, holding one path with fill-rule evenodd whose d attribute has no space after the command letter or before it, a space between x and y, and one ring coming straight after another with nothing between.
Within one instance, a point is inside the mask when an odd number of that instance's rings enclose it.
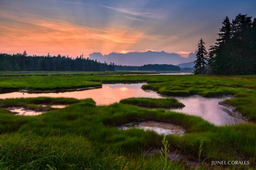
<instances>
[{"instance_id":1,"label":"low narrow grass islet surrounded by the reflective water","mask_svg":"<svg viewBox=\"0 0 256 170\"><path fill-rule=\"evenodd\" d=\"M184 107L177 99L174 98L129 98L123 99L119 103L136 105L146 108L181 108Z\"/></svg>"}]
</instances>

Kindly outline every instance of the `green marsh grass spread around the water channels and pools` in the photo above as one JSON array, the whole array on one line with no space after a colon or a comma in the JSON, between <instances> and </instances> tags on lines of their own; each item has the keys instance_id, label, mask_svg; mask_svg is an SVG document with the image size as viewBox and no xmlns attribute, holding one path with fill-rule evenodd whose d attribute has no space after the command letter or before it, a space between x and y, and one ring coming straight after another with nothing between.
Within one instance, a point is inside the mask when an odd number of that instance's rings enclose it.
<instances>
[{"instance_id":1,"label":"green marsh grass spread around the water channels and pools","mask_svg":"<svg viewBox=\"0 0 256 170\"><path fill-rule=\"evenodd\" d=\"M234 94L236 98L224 103L236 107L255 122L255 80L256 76L28 76L3 77L0 87L2 90L55 89L94 83L147 82L143 89L166 95L210 97ZM9 106L36 108L38 104L52 102L70 105L38 116L13 115L5 109ZM163 147L163 135L135 128L126 131L115 128L142 120L182 125L187 130L183 136L166 136L171 151L178 150L198 159L200 142L203 141L200 160L249 160L249 166L226 168L256 167L255 123L217 127L197 116L121 103L96 106L91 99L7 99L0 100L0 107L0 169L163 169L166 163L162 162L160 154L146 155L151 148ZM168 162L168 166L188 169L184 162Z\"/></svg>"}]
</instances>

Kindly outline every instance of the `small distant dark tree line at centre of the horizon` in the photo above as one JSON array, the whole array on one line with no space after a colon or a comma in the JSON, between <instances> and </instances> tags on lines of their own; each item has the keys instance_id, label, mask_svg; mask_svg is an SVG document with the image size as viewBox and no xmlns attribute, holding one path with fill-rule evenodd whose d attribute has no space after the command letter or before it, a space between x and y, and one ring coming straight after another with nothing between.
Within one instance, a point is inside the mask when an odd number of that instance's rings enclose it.
<instances>
[{"instance_id":1,"label":"small distant dark tree line at centre of the horizon","mask_svg":"<svg viewBox=\"0 0 256 170\"><path fill-rule=\"evenodd\" d=\"M117 71L180 71L180 67L172 64L146 64L143 66L116 65Z\"/></svg>"}]
</instances>

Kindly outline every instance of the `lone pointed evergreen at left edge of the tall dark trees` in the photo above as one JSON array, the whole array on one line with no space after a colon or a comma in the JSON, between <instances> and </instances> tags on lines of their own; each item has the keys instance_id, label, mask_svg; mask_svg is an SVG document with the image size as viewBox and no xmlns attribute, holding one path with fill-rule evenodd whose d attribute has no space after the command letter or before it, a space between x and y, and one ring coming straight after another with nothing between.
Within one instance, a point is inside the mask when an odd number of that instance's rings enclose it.
<instances>
[{"instance_id":1,"label":"lone pointed evergreen at left edge of the tall dark trees","mask_svg":"<svg viewBox=\"0 0 256 170\"><path fill-rule=\"evenodd\" d=\"M195 70L194 73L195 75L199 74L206 74L206 69L207 69L207 52L204 47L204 41L201 38L199 43L198 43L198 53L197 53L197 60L195 61Z\"/></svg>"}]
</instances>

